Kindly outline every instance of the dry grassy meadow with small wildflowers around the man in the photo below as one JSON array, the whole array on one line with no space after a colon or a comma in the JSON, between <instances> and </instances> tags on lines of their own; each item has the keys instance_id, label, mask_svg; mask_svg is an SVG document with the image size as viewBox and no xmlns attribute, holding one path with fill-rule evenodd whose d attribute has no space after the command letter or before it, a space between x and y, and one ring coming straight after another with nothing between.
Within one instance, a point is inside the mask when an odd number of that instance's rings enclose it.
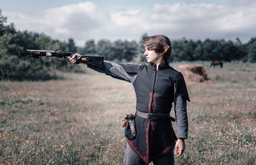
<instances>
[{"instance_id":1,"label":"dry grassy meadow with small wildflowers around the man","mask_svg":"<svg viewBox=\"0 0 256 165\"><path fill-rule=\"evenodd\" d=\"M188 85L189 138L175 162L256 164L256 64L196 63L214 82ZM82 69L60 73L65 80L0 82L0 164L122 164L132 85Z\"/></svg>"}]
</instances>

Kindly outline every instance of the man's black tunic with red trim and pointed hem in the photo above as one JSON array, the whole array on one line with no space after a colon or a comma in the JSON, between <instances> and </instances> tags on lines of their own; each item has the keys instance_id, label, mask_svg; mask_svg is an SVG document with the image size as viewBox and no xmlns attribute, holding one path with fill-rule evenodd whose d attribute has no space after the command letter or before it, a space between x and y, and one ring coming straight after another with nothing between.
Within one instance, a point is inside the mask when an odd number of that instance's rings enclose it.
<instances>
[{"instance_id":1,"label":"man's black tunic with red trim and pointed hem","mask_svg":"<svg viewBox=\"0 0 256 165\"><path fill-rule=\"evenodd\" d=\"M109 63L110 64L110 63ZM115 63L111 63L113 66ZM134 65L118 64L111 70L111 66L105 62L105 70L100 71L106 75L121 80L132 82L136 93L136 110L144 113L170 113L175 95L189 101L188 91L182 74L169 66L168 62L159 65L156 70L155 64ZM88 66L90 67L90 66ZM99 71L99 69L90 67ZM127 75L126 75L127 74ZM186 102L186 100L185 100ZM186 104L186 103L185 103ZM186 107L185 107L186 108ZM187 115L187 114L184 114ZM181 126L185 133L182 137L187 138L188 118L185 125ZM147 120L139 116L135 117L137 135L127 142L131 148L148 164L154 158L169 152L175 145L175 138L170 120ZM185 135L184 135L185 134Z\"/></svg>"}]
</instances>

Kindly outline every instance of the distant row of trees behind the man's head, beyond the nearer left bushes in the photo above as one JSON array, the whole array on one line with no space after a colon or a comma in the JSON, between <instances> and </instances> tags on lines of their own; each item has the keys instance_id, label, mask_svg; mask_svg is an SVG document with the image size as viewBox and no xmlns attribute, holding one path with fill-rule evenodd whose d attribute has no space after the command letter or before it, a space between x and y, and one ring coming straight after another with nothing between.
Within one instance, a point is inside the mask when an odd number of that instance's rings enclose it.
<instances>
[{"instance_id":1,"label":"distant row of trees behind the man's head, beyond the nearer left bushes","mask_svg":"<svg viewBox=\"0 0 256 165\"><path fill-rule=\"evenodd\" d=\"M136 41L109 41L102 39L86 41L84 47L78 48L81 54L105 55L109 61L117 62L145 62L143 56L145 47L142 40L147 37L143 34L139 43ZM182 38L172 41L172 55L170 61L243 61L256 62L256 38L248 43L225 41L225 39L205 39L194 41Z\"/></svg>"}]
</instances>

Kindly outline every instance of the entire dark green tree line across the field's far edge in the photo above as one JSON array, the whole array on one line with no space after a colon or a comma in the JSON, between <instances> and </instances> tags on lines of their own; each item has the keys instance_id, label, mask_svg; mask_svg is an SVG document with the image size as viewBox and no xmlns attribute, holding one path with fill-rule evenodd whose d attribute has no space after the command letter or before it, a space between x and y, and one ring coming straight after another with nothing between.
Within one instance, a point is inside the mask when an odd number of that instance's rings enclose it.
<instances>
[{"instance_id":1,"label":"entire dark green tree line across the field's far edge","mask_svg":"<svg viewBox=\"0 0 256 165\"><path fill-rule=\"evenodd\" d=\"M142 41L147 37L143 34L140 41L118 39L93 39L85 41L83 47L77 47L74 39L67 41L52 39L44 33L17 31L14 24L4 25L7 18L0 10L0 80L49 80L58 78L56 70L74 71L74 65L69 66L65 60L44 58L44 67L40 61L31 67L31 57L17 57L17 52L27 49L56 50L61 48L67 52L79 54L104 55L105 59L114 62L146 62L145 48ZM248 43L225 39L205 39L204 41L182 38L172 41L172 55L170 61L243 61L256 62L256 38Z\"/></svg>"}]
</instances>

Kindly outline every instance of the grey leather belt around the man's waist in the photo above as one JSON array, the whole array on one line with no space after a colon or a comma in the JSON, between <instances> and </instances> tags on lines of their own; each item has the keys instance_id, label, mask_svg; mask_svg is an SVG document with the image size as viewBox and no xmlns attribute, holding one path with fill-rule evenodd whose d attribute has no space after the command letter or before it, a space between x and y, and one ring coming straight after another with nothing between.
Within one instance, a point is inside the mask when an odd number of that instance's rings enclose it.
<instances>
[{"instance_id":1,"label":"grey leather belt around the man's waist","mask_svg":"<svg viewBox=\"0 0 256 165\"><path fill-rule=\"evenodd\" d=\"M163 120L170 118L172 122L175 122L175 118L170 117L170 113L144 113L142 111L136 110L135 115L138 115L142 118L146 118L148 120Z\"/></svg>"}]
</instances>

